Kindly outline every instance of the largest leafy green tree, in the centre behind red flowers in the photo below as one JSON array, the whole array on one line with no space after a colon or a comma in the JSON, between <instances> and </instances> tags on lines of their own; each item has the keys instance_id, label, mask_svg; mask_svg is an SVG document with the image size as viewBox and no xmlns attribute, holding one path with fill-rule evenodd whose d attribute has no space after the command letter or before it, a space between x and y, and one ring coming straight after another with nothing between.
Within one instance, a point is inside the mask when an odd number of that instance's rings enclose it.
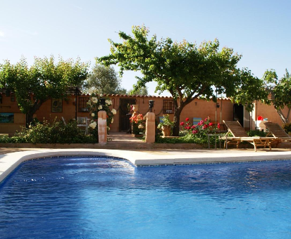
<instances>
[{"instance_id":1,"label":"largest leafy green tree, in the centre behind red flowers","mask_svg":"<svg viewBox=\"0 0 291 239\"><path fill-rule=\"evenodd\" d=\"M173 96L173 135L179 134L180 113L185 105L196 98L216 101L213 86L218 93L233 96L240 87L244 70L237 69L241 56L233 49L219 49L219 42L204 41L197 46L188 41L172 39L148 39L149 30L144 26L132 27L133 37L119 32L122 43L111 43L111 54L97 58L103 65L118 65L120 74L125 70L140 71L136 88L147 82L156 82L156 91L169 91Z\"/></svg>"}]
</instances>

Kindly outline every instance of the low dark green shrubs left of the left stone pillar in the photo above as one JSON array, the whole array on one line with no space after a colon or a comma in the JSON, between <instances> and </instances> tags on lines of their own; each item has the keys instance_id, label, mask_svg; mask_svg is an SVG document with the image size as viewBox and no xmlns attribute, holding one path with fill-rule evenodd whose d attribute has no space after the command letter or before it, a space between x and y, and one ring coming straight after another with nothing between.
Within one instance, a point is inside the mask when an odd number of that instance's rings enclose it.
<instances>
[{"instance_id":1,"label":"low dark green shrubs left of the left stone pillar","mask_svg":"<svg viewBox=\"0 0 291 239\"><path fill-rule=\"evenodd\" d=\"M63 124L54 120L51 124L47 121L37 122L35 126L23 128L22 131L9 138L1 136L0 143L98 143L94 136L85 136L77 127L76 122Z\"/></svg>"}]
</instances>

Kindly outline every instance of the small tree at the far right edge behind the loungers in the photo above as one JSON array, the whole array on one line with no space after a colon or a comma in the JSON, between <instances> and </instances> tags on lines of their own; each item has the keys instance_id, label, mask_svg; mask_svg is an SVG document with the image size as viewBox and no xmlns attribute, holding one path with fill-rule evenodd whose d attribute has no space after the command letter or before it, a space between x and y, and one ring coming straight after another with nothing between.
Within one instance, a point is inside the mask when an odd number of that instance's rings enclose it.
<instances>
[{"instance_id":1,"label":"small tree at the far right edge behind the loungers","mask_svg":"<svg viewBox=\"0 0 291 239\"><path fill-rule=\"evenodd\" d=\"M283 124L287 124L291 111L291 76L287 69L285 75L278 79L275 70L266 70L264 73L264 87L271 95L271 102L278 112ZM287 115L284 115L283 108L287 107Z\"/></svg>"}]
</instances>

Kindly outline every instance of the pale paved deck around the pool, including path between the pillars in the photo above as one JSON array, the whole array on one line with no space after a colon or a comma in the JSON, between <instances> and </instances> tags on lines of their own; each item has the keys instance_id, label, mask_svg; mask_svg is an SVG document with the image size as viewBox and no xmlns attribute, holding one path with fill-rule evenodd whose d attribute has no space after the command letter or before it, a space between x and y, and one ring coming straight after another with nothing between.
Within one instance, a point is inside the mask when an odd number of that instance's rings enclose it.
<instances>
[{"instance_id":1,"label":"pale paved deck around the pool, including path between the pillars","mask_svg":"<svg viewBox=\"0 0 291 239\"><path fill-rule=\"evenodd\" d=\"M119 137L119 136L118 136ZM118 142L118 137L113 137L113 142ZM0 148L0 181L5 179L21 162L44 157L58 156L106 156L120 157L130 161L137 167L155 166L165 164L205 164L226 162L254 162L266 160L291 160L291 150L283 148L259 149L152 149L151 147L136 148L139 139L127 136L119 139L132 149L108 148ZM119 145L119 144L118 144Z\"/></svg>"}]
</instances>

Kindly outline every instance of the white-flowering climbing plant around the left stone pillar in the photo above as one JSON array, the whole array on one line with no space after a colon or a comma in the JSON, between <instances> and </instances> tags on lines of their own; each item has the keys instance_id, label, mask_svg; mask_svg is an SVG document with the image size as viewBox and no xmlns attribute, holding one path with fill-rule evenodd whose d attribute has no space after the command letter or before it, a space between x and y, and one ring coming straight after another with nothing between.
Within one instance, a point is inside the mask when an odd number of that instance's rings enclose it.
<instances>
[{"instance_id":1,"label":"white-flowering climbing plant around the left stone pillar","mask_svg":"<svg viewBox=\"0 0 291 239\"><path fill-rule=\"evenodd\" d=\"M113 123L113 117L116 115L115 109L110 109L109 106L112 105L110 98L105 99L105 105L101 105L100 98L98 96L92 95L90 101L88 102L89 109L91 111L92 120L89 124L90 132L94 136L98 136L98 111L104 110L106 111L107 117L107 131L110 130L111 124Z\"/></svg>"}]
</instances>

